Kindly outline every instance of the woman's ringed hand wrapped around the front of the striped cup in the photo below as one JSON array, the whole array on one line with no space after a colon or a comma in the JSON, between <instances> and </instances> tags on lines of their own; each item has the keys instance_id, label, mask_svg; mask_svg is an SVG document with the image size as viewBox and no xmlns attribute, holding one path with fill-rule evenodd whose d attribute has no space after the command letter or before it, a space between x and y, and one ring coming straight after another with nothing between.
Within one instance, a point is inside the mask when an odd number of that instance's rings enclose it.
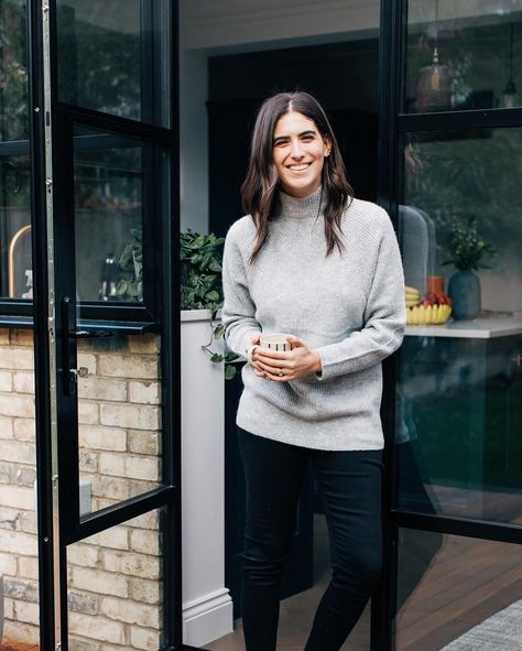
<instances>
[{"instance_id":1,"label":"woman's ringed hand wrapped around the front of the striped cup","mask_svg":"<svg viewBox=\"0 0 522 651\"><path fill-rule=\"evenodd\" d=\"M292 350L286 352L267 348L255 348L253 351L255 366L263 371L267 380L286 382L320 371L319 355L308 348L303 339L289 336L286 340L292 345Z\"/></svg>"}]
</instances>

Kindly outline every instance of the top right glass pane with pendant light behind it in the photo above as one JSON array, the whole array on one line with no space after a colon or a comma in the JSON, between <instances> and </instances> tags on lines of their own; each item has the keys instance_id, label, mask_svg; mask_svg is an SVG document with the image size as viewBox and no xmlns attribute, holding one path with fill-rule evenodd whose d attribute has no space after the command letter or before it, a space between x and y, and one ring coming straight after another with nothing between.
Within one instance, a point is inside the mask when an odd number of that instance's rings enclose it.
<instances>
[{"instance_id":1,"label":"top right glass pane with pendant light behind it","mask_svg":"<svg viewBox=\"0 0 522 651\"><path fill-rule=\"evenodd\" d=\"M520 106L521 0L410 0L407 9L405 112Z\"/></svg>"}]
</instances>

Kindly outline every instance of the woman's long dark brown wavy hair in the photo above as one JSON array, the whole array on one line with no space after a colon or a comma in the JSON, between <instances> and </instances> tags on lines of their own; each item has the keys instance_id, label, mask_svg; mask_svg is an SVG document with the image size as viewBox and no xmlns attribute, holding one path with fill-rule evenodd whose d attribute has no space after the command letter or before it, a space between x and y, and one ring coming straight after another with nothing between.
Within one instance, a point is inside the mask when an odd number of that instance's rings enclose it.
<instances>
[{"instance_id":1,"label":"woman's long dark brown wavy hair","mask_svg":"<svg viewBox=\"0 0 522 651\"><path fill-rule=\"evenodd\" d=\"M269 220L273 218L280 181L272 158L273 135L278 120L284 113L296 111L315 122L323 139L331 144L329 156L325 158L322 180L322 202L325 206L326 254L335 247L342 251L342 213L354 198L348 183L339 145L331 126L319 102L307 93L279 93L269 97L259 109L250 145L250 163L247 177L241 186L242 207L251 215L258 230L258 239L250 261L259 256L267 241Z\"/></svg>"}]
</instances>

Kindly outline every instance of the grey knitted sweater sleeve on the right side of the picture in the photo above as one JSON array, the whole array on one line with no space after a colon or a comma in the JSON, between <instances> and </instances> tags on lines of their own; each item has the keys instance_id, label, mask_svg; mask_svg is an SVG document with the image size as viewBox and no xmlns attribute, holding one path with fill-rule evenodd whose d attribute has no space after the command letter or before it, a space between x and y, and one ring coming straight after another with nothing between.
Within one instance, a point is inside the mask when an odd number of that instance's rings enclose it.
<instances>
[{"instance_id":1,"label":"grey knitted sweater sleeve on the right side of the picture","mask_svg":"<svg viewBox=\"0 0 522 651\"><path fill-rule=\"evenodd\" d=\"M404 336L405 301L401 253L388 216L365 310L365 325L342 341L316 348L320 380L363 370L399 348Z\"/></svg>"}]
</instances>

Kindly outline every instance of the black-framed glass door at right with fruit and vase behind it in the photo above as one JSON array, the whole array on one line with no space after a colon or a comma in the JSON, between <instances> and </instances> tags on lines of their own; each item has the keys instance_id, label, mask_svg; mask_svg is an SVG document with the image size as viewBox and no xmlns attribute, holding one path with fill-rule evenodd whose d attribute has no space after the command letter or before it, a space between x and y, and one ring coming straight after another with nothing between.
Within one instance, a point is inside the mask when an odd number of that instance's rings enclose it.
<instances>
[{"instance_id":1,"label":"black-framed glass door at right with fruit and vase behind it","mask_svg":"<svg viewBox=\"0 0 522 651\"><path fill-rule=\"evenodd\" d=\"M410 290L376 649L522 643L522 6L493 4L382 3L380 200Z\"/></svg>"}]
</instances>

